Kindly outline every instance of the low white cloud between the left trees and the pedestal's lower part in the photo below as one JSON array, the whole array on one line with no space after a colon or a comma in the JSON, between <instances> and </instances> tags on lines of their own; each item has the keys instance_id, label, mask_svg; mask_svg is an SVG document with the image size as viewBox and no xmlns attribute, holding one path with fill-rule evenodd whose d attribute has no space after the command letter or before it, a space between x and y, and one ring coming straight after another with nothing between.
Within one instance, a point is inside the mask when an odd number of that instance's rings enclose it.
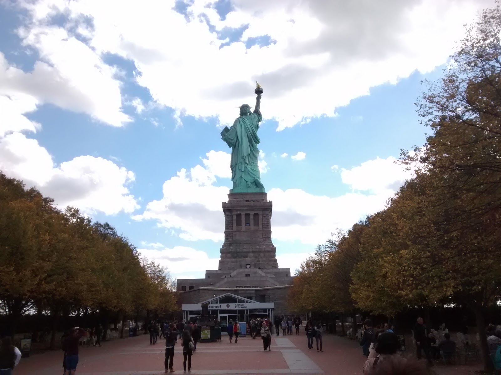
<instances>
[{"instance_id":1,"label":"low white cloud between the left trees and the pedestal's lower part","mask_svg":"<svg viewBox=\"0 0 501 375\"><path fill-rule=\"evenodd\" d=\"M171 275L178 278L192 278L191 275L186 275L186 272L195 273L204 272L206 269L217 269L219 263L219 257L210 258L205 251L186 246L139 248L138 251L148 259L169 268ZM200 274L193 276L200 277Z\"/></svg>"}]
</instances>

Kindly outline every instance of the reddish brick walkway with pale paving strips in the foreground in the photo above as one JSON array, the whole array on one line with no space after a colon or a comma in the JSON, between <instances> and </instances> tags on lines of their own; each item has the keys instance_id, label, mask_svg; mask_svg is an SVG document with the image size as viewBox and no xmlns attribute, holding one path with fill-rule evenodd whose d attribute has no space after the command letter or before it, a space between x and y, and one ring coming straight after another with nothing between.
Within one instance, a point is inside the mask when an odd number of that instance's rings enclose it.
<instances>
[{"instance_id":1,"label":"reddish brick walkway with pale paving strips in the foreground","mask_svg":"<svg viewBox=\"0 0 501 375\"><path fill-rule=\"evenodd\" d=\"M356 342L335 335L324 334L324 352L308 349L306 335L273 336L272 350L265 352L261 338L241 337L238 343L229 343L227 336L221 342L198 343L192 356L192 374L318 374L360 375L365 361ZM130 337L104 342L101 347L81 347L78 375L158 375L163 372L164 341L149 344L148 336ZM61 350L22 358L16 375L62 374ZM440 375L466 374L465 366L452 368L436 366ZM180 342L176 344L174 370L183 371ZM450 372L449 370L453 371Z\"/></svg>"}]
</instances>

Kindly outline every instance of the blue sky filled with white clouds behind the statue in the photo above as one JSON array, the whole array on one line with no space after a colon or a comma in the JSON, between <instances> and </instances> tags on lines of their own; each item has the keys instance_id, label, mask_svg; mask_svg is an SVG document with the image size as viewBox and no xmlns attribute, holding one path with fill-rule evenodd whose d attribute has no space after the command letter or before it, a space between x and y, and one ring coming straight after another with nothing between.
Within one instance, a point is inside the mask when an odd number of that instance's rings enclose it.
<instances>
[{"instance_id":1,"label":"blue sky filled with white clouds behind the statue","mask_svg":"<svg viewBox=\"0 0 501 375\"><path fill-rule=\"evenodd\" d=\"M201 276L231 185L219 132L259 79L261 179L279 264L296 268L409 177L394 161L424 143L420 81L490 4L307 2L0 1L0 169Z\"/></svg>"}]
</instances>

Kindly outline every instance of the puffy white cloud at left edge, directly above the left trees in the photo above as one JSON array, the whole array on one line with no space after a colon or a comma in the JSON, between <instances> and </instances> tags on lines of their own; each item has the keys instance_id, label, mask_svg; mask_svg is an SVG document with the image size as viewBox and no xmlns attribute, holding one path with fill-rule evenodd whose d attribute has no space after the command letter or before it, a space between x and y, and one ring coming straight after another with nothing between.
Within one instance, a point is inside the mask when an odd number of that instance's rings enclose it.
<instances>
[{"instance_id":1,"label":"puffy white cloud at left edge, directly above the left trees","mask_svg":"<svg viewBox=\"0 0 501 375\"><path fill-rule=\"evenodd\" d=\"M0 139L0 169L36 186L61 207L74 205L83 212L132 212L139 205L128 185L134 173L110 160L78 156L56 166L49 152L35 139L15 132Z\"/></svg>"}]
</instances>

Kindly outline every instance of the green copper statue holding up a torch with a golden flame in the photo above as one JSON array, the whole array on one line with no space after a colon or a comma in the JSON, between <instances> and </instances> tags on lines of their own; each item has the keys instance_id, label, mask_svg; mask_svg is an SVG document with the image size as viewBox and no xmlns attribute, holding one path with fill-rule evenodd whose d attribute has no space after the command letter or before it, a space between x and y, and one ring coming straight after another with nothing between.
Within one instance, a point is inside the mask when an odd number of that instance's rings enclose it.
<instances>
[{"instance_id":1,"label":"green copper statue holding up a torch with a golden flame","mask_svg":"<svg viewBox=\"0 0 501 375\"><path fill-rule=\"evenodd\" d=\"M256 107L250 111L248 104L240 107L240 116L233 122L233 126L227 126L221 131L221 138L231 147L231 180L233 188L230 192L265 192L265 186L261 183L258 167L260 139L258 136L259 123L263 119L260 112L261 94L263 88L256 82L254 92Z\"/></svg>"}]
</instances>

